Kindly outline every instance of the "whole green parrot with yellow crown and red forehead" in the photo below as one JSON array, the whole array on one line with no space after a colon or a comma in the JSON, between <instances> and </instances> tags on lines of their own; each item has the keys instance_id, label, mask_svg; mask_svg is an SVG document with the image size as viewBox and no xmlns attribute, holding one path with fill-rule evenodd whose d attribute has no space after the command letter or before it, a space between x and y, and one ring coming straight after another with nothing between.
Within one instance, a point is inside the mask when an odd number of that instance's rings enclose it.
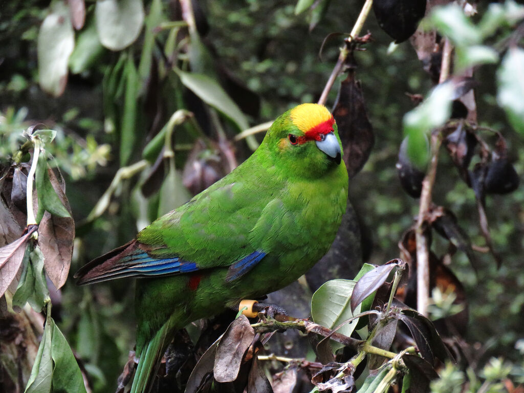
<instances>
[{"instance_id":1,"label":"whole green parrot with yellow crown and red forehead","mask_svg":"<svg viewBox=\"0 0 524 393\"><path fill-rule=\"evenodd\" d=\"M77 272L79 284L140 278L132 393L149 390L178 330L287 286L328 251L346 209L341 157L332 114L299 105L242 165Z\"/></svg>"}]
</instances>

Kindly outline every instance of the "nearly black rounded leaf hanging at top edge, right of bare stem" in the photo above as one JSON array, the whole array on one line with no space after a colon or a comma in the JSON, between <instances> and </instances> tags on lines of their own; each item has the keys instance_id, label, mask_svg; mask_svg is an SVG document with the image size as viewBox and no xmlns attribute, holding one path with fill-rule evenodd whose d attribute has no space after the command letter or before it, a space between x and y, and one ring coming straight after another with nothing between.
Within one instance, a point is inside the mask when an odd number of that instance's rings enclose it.
<instances>
[{"instance_id":1,"label":"nearly black rounded leaf hanging at top edge, right of bare stem","mask_svg":"<svg viewBox=\"0 0 524 393\"><path fill-rule=\"evenodd\" d=\"M398 43L417 30L425 6L426 0L378 0L373 2L373 12L378 25Z\"/></svg>"}]
</instances>

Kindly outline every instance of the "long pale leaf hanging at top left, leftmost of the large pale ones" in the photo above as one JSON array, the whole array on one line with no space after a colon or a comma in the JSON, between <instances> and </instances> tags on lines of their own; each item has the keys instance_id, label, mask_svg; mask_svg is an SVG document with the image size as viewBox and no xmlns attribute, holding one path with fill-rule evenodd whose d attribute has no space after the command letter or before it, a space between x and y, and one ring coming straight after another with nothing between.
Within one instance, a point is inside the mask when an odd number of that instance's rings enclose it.
<instances>
[{"instance_id":1,"label":"long pale leaf hanging at top left, leftmost of the large pale ones","mask_svg":"<svg viewBox=\"0 0 524 393\"><path fill-rule=\"evenodd\" d=\"M58 97L67 84L68 61L74 48L69 8L64 2L51 4L38 32L38 83L43 91Z\"/></svg>"}]
</instances>

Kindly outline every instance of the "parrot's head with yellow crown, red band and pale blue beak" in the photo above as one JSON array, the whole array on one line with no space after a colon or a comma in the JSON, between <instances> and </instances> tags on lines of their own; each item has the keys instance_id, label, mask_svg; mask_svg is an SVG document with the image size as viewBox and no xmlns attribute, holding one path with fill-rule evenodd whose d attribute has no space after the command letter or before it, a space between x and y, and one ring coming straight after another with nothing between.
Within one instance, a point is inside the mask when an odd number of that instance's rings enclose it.
<instances>
[{"instance_id":1,"label":"parrot's head with yellow crown, red band and pale blue beak","mask_svg":"<svg viewBox=\"0 0 524 393\"><path fill-rule=\"evenodd\" d=\"M323 176L339 166L342 157L335 119L318 104L302 104L282 114L260 147L276 167L304 178Z\"/></svg>"}]
</instances>

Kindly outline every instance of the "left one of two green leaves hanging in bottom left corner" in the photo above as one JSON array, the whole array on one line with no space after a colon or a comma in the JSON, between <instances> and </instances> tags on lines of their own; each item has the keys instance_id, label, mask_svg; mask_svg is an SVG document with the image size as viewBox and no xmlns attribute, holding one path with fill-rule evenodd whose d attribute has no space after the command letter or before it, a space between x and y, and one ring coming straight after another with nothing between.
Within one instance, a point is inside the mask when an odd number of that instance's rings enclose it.
<instances>
[{"instance_id":1,"label":"left one of two green leaves hanging in bottom left corner","mask_svg":"<svg viewBox=\"0 0 524 393\"><path fill-rule=\"evenodd\" d=\"M51 341L53 326L51 316L46 319L43 329L42 341L38 347L35 363L31 369L31 375L27 381L25 393L48 393L51 391L51 380L53 374L53 360L51 357Z\"/></svg>"}]
</instances>

